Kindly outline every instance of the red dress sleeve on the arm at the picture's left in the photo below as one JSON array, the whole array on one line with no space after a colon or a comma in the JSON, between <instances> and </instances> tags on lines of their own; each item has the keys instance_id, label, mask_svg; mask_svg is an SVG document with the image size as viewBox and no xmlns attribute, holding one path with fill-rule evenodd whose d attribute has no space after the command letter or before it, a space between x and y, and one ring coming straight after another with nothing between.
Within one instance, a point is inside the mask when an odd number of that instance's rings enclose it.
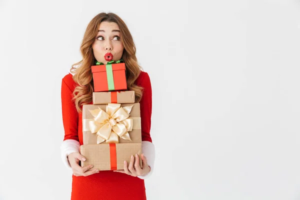
<instances>
[{"instance_id":1,"label":"red dress sleeve on the arm at the picture's left","mask_svg":"<svg viewBox=\"0 0 300 200\"><path fill-rule=\"evenodd\" d=\"M72 101L72 91L65 80L61 81L61 109L64 128L64 139L78 139L78 112L75 103Z\"/></svg>"}]
</instances>

